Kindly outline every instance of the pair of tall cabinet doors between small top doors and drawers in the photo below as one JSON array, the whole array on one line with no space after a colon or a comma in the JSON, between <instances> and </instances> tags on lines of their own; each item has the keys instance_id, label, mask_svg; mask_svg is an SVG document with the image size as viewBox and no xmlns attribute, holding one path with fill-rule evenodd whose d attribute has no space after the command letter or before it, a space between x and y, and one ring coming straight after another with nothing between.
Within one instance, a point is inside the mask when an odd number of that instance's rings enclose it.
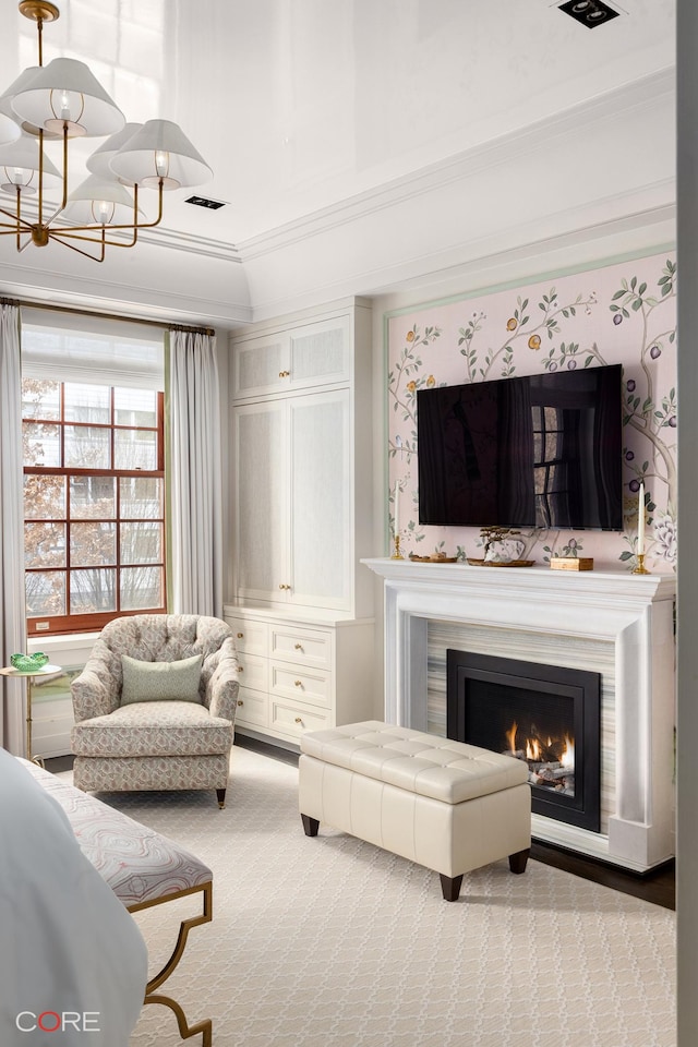
<instances>
[{"instance_id":1,"label":"pair of tall cabinet doors between small top doors and drawers","mask_svg":"<svg viewBox=\"0 0 698 1047\"><path fill-rule=\"evenodd\" d=\"M237 593L350 611L350 394L233 409Z\"/></svg>"}]
</instances>

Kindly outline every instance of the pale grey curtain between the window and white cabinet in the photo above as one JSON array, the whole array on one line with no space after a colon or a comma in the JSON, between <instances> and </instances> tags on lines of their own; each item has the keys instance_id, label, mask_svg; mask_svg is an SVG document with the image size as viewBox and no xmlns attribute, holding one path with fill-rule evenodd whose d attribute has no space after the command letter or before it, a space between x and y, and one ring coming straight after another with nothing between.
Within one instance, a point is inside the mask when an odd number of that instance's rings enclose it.
<instances>
[{"instance_id":1,"label":"pale grey curtain between the window and white cabinet","mask_svg":"<svg viewBox=\"0 0 698 1047\"><path fill-rule=\"evenodd\" d=\"M170 332L165 395L168 610L222 617L222 471L215 337Z\"/></svg>"}]
</instances>

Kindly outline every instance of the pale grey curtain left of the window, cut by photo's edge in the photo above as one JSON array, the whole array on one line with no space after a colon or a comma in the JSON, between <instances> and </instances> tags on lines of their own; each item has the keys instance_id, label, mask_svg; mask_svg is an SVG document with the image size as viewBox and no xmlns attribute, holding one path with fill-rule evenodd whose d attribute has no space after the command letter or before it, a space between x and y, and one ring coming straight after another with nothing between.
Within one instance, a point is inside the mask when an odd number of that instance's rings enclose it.
<instances>
[{"instance_id":1,"label":"pale grey curtain left of the window, cut by photo's edge","mask_svg":"<svg viewBox=\"0 0 698 1047\"><path fill-rule=\"evenodd\" d=\"M20 310L0 305L0 667L26 650ZM23 679L0 676L0 742L24 756Z\"/></svg>"}]
</instances>

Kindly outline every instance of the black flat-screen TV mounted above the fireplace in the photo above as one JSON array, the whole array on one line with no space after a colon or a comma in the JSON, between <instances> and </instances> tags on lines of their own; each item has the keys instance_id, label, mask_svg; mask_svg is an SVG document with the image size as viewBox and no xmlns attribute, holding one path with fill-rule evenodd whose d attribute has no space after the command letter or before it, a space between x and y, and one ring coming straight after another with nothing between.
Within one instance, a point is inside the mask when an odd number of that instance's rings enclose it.
<instances>
[{"instance_id":1,"label":"black flat-screen TV mounted above the fireplace","mask_svg":"<svg viewBox=\"0 0 698 1047\"><path fill-rule=\"evenodd\" d=\"M420 524L622 530L622 373L419 389Z\"/></svg>"}]
</instances>

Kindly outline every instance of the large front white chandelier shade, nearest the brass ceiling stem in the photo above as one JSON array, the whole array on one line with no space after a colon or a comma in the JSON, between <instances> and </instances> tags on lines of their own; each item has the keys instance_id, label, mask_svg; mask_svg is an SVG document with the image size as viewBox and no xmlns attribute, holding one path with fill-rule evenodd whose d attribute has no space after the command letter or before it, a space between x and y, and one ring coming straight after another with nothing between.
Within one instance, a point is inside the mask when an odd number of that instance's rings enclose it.
<instances>
[{"instance_id":1,"label":"large front white chandelier shade, nearest the brass ceiling stem","mask_svg":"<svg viewBox=\"0 0 698 1047\"><path fill-rule=\"evenodd\" d=\"M55 58L14 94L12 108L32 127L68 136L113 134L125 117L84 62Z\"/></svg>"}]
</instances>

